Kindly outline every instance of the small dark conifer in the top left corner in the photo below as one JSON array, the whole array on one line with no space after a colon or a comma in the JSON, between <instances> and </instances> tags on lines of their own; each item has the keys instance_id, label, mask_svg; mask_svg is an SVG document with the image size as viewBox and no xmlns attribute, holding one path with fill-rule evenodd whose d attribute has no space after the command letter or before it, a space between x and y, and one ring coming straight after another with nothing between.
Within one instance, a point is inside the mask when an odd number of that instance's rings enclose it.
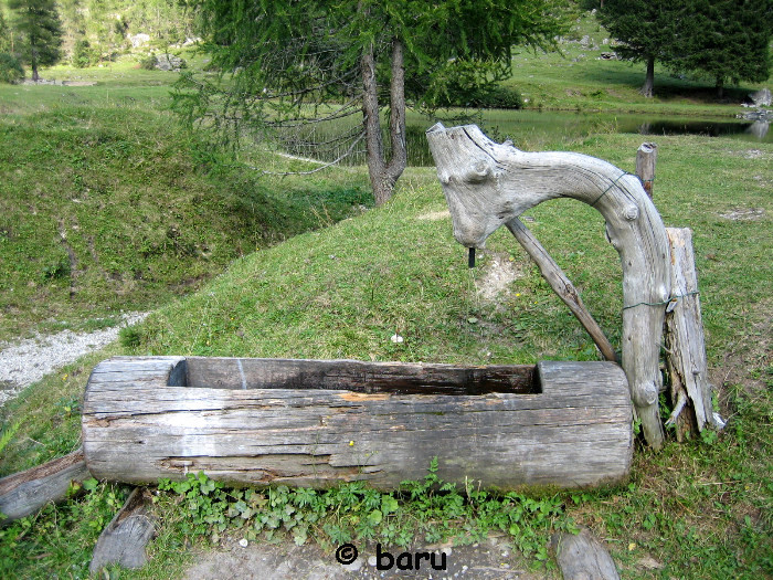
<instances>
[{"instance_id":1,"label":"small dark conifer in the top left corner","mask_svg":"<svg viewBox=\"0 0 773 580\"><path fill-rule=\"evenodd\" d=\"M54 0L8 0L18 33L15 51L39 81L39 66L51 66L62 56L62 22Z\"/></svg>"}]
</instances>

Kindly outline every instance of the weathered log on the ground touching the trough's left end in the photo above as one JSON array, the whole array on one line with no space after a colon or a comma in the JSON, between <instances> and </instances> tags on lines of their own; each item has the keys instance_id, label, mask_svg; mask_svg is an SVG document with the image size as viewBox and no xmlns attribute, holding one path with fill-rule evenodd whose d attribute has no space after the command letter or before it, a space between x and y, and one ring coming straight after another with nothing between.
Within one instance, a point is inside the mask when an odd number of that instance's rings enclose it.
<instances>
[{"instance_id":1,"label":"weathered log on the ground touching the trough's left end","mask_svg":"<svg viewBox=\"0 0 773 580\"><path fill-rule=\"evenodd\" d=\"M0 525L34 514L49 502L67 495L73 482L81 483L92 475L86 468L83 450L43 465L0 479Z\"/></svg>"}]
</instances>

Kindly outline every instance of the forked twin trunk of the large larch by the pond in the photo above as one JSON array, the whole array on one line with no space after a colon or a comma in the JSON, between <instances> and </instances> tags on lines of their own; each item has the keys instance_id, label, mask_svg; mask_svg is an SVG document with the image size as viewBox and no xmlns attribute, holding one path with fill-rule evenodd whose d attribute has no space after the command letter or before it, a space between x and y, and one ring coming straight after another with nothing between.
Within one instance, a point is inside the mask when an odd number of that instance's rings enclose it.
<instances>
[{"instance_id":1,"label":"forked twin trunk of the large larch by the pond","mask_svg":"<svg viewBox=\"0 0 773 580\"><path fill-rule=\"evenodd\" d=\"M390 136L391 156L389 164L384 155L381 136L379 87L375 78L375 56L371 46L360 62L362 74L362 114L366 131L366 156L368 173L377 205L382 205L392 197L394 184L403 173L407 162L405 147L405 73L403 45L398 39L392 42L392 78L390 84Z\"/></svg>"}]
</instances>

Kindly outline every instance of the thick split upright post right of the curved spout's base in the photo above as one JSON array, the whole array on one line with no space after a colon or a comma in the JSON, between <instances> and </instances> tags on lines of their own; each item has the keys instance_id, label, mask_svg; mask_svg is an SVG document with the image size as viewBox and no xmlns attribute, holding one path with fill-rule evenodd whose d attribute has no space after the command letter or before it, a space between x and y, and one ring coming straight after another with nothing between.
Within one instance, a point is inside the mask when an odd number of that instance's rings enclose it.
<instances>
[{"instance_id":1,"label":"thick split upright post right of the curved spout's base","mask_svg":"<svg viewBox=\"0 0 773 580\"><path fill-rule=\"evenodd\" d=\"M711 384L708 381L698 276L689 228L666 228L671 253L671 293L675 302L666 314L666 368L671 380L677 440L713 425Z\"/></svg>"}]
</instances>

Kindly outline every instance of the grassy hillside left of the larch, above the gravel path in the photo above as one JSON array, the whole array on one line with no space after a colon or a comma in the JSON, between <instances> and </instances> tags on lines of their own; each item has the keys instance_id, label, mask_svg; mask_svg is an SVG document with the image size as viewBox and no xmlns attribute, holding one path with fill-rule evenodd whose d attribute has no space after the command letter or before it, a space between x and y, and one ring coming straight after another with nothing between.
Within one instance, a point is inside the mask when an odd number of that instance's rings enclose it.
<instances>
[{"instance_id":1,"label":"grassy hillside left of the larch, above the gravel path","mask_svg":"<svg viewBox=\"0 0 773 580\"><path fill-rule=\"evenodd\" d=\"M173 76L148 89L117 72L96 86L0 86L0 341L110 324L369 202L360 171L230 166L166 110Z\"/></svg>"}]
</instances>

